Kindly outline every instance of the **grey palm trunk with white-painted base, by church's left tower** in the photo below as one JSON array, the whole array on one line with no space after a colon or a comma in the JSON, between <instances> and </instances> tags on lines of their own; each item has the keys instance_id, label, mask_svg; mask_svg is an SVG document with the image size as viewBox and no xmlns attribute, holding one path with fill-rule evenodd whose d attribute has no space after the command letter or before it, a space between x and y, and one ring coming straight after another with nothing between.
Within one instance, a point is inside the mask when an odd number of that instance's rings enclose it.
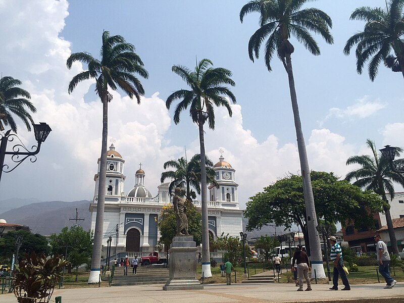
<instances>
[{"instance_id":1,"label":"grey palm trunk with white-painted base, by church's left tower","mask_svg":"<svg viewBox=\"0 0 404 303\"><path fill-rule=\"evenodd\" d=\"M101 265L101 249L104 233L104 207L105 207L105 183L107 174L107 139L108 139L108 94L102 95L103 101L103 138L101 157L99 161L97 215L95 218L94 244L92 246L91 272L88 283L98 283Z\"/></svg>"}]
</instances>

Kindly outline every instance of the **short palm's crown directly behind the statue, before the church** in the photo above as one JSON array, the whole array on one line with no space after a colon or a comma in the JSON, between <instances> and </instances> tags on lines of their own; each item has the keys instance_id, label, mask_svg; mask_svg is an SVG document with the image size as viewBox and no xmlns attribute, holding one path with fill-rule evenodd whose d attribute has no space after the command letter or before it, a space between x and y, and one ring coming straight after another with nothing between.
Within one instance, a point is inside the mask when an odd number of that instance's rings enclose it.
<instances>
[{"instance_id":1,"label":"short palm's crown directly behind the statue, before the church","mask_svg":"<svg viewBox=\"0 0 404 303\"><path fill-rule=\"evenodd\" d=\"M213 170L213 162L206 157L206 177L207 183L219 185L216 182L216 173ZM187 162L184 157L178 160L170 160L164 163L164 169L172 167L175 171L166 171L161 174L161 183L166 179L172 179L168 188L169 192L174 192L175 187L186 187L186 199L192 201L196 198L196 193L200 194L200 154L196 154ZM196 193L191 189L195 188Z\"/></svg>"}]
</instances>

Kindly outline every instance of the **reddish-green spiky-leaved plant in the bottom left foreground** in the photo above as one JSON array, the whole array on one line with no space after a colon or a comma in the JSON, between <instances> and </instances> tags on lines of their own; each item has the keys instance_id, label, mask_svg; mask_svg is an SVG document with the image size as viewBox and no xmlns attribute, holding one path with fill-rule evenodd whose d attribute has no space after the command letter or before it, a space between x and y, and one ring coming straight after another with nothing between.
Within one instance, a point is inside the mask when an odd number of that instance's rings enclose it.
<instances>
[{"instance_id":1,"label":"reddish-green spiky-leaved plant in the bottom left foreground","mask_svg":"<svg viewBox=\"0 0 404 303\"><path fill-rule=\"evenodd\" d=\"M68 262L62 256L26 255L15 266L14 294L20 303L49 302Z\"/></svg>"}]
</instances>

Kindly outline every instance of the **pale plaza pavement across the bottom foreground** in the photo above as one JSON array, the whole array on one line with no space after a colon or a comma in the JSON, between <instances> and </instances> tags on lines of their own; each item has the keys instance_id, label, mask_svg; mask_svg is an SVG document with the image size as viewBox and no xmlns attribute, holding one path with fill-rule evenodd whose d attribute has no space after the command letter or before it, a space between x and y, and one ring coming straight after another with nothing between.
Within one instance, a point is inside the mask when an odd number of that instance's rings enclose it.
<instances>
[{"instance_id":1,"label":"pale plaza pavement across the bottom foreground","mask_svg":"<svg viewBox=\"0 0 404 303\"><path fill-rule=\"evenodd\" d=\"M404 282L391 289L385 284L353 285L350 291L332 291L328 284L313 284L312 291L296 291L294 284L205 284L203 290L164 291L161 285L90 287L55 289L52 297L62 296L63 303L223 303L223 302L404 302ZM14 294L0 294L1 303L15 303Z\"/></svg>"}]
</instances>

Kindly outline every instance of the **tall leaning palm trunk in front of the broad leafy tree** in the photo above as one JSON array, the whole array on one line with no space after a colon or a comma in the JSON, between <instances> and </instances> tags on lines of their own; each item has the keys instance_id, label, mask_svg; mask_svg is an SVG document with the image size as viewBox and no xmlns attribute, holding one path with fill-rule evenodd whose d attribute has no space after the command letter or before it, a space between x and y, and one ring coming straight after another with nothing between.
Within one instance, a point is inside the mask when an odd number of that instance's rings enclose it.
<instances>
[{"instance_id":1,"label":"tall leaning palm trunk in front of the broad leafy tree","mask_svg":"<svg viewBox=\"0 0 404 303\"><path fill-rule=\"evenodd\" d=\"M314 206L314 196L312 189L312 181L310 178L309 161L307 159L307 151L303 132L301 130L299 109L297 106L296 89L294 87L294 78L292 70L292 60L290 54L286 54L286 72L289 78L290 98L292 101L294 126L296 128L297 148L300 159L301 178L303 180L303 191L305 196L306 205L306 222L310 242L310 255L312 261L312 277L314 276L314 269L316 269L317 277L325 278L323 267L323 259L321 256L320 238L317 232L317 215Z\"/></svg>"}]
</instances>

